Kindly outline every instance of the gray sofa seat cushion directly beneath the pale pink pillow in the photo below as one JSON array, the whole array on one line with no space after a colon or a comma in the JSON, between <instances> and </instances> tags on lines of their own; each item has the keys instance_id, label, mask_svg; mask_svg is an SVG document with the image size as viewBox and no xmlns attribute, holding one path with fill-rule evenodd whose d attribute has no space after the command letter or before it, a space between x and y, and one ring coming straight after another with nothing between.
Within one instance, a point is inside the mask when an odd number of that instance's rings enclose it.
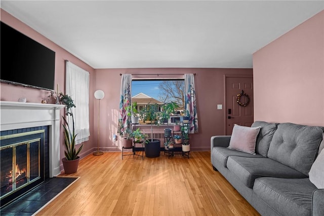
<instances>
[{"instance_id":1,"label":"gray sofa seat cushion directly beneath the pale pink pillow","mask_svg":"<svg viewBox=\"0 0 324 216\"><path fill-rule=\"evenodd\" d=\"M239 157L247 157L247 158L263 158L262 155L252 155L245 152L240 152L224 147L214 147L212 149L212 157L215 158L222 166L227 167L227 158L229 156L239 156Z\"/></svg>"}]
</instances>

